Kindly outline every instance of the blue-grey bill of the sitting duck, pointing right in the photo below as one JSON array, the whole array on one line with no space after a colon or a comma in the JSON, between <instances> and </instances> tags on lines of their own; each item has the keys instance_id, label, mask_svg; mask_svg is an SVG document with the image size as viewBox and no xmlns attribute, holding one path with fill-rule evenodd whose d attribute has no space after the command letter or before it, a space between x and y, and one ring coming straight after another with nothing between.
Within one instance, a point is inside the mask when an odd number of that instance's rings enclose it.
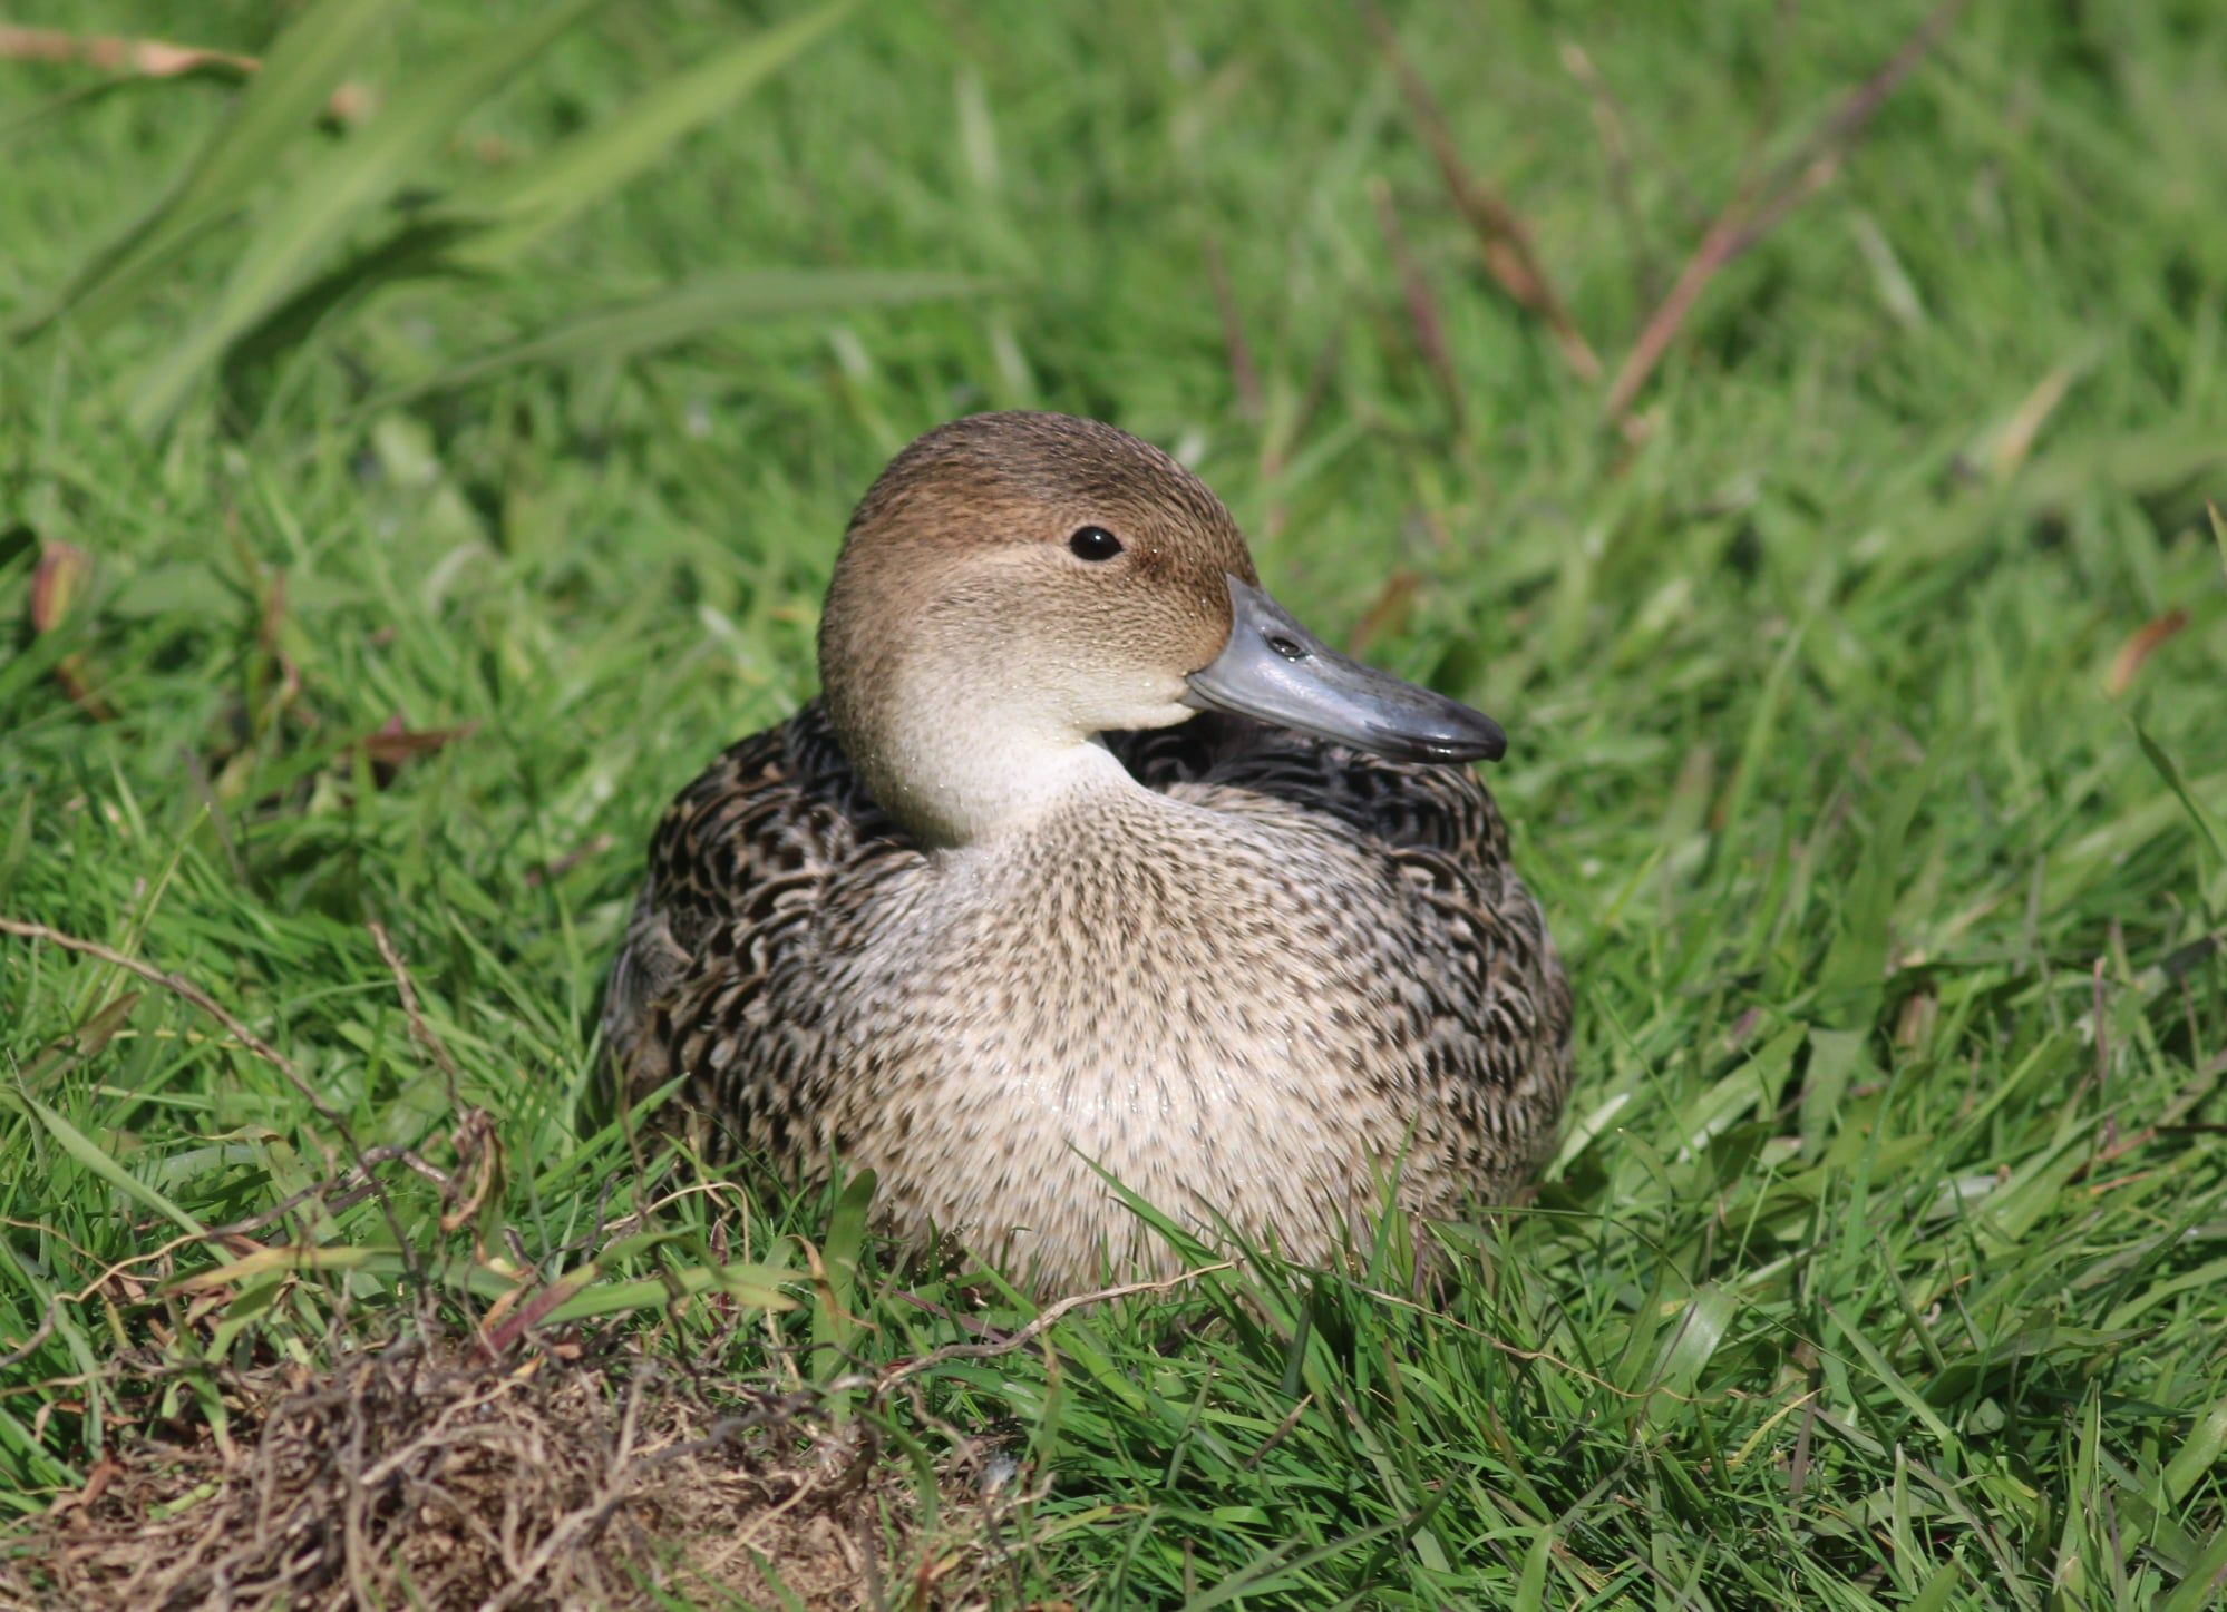
<instances>
[{"instance_id":1,"label":"blue-grey bill of the sitting duck, pointing right","mask_svg":"<svg viewBox=\"0 0 2227 1612\"><path fill-rule=\"evenodd\" d=\"M1492 717L1338 655L1236 577L1229 606L1229 643L1191 672L1185 704L1258 717L1390 761L1499 761L1508 750Z\"/></svg>"}]
</instances>

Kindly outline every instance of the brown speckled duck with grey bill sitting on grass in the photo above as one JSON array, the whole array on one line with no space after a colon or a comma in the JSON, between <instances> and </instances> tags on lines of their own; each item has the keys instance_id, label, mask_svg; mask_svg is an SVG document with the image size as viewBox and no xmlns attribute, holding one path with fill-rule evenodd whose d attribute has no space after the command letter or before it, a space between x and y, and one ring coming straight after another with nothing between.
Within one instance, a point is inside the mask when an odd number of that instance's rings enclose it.
<instances>
[{"instance_id":1,"label":"brown speckled duck with grey bill sitting on grass","mask_svg":"<svg viewBox=\"0 0 2227 1612\"><path fill-rule=\"evenodd\" d=\"M664 813L621 1100L1040 1294L1207 1238L1307 1265L1519 1196L1570 984L1472 761L1503 730L1260 588L1223 501L1047 412L940 425L835 559L817 699ZM677 1104L677 1107L675 1107Z\"/></svg>"}]
</instances>

